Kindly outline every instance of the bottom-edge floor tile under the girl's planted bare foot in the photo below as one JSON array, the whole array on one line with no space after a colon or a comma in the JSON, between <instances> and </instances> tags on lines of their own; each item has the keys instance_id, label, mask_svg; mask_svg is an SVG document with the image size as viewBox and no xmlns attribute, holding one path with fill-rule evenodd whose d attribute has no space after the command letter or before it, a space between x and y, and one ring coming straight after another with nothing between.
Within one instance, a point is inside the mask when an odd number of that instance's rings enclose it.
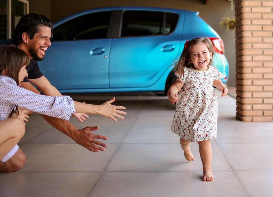
<instances>
[{"instance_id":1,"label":"bottom-edge floor tile under the girl's planted bare foot","mask_svg":"<svg viewBox=\"0 0 273 197\"><path fill-rule=\"evenodd\" d=\"M204 182L196 171L104 172L89 197L247 197L233 171L215 171L214 177L214 181Z\"/></svg>"}]
</instances>

